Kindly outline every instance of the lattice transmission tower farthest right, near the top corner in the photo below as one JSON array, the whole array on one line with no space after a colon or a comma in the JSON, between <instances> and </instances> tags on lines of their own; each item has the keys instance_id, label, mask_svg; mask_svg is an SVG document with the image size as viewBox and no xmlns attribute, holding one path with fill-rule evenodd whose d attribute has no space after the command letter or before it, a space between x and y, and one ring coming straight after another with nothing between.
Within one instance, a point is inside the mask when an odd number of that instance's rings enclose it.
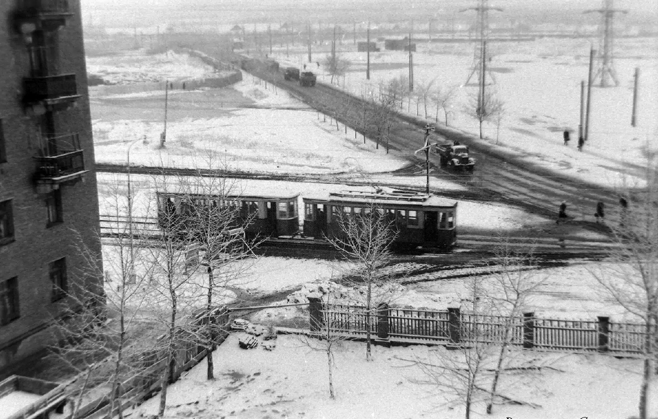
<instances>
[{"instance_id":1,"label":"lattice transmission tower farthest right, near the top corner","mask_svg":"<svg viewBox=\"0 0 658 419\"><path fill-rule=\"evenodd\" d=\"M592 79L592 83L599 83L601 87L609 87L610 80L615 86L619 85L617 72L614 64L614 46L615 46L615 14L628 13L622 9L615 9L613 0L603 0L601 9L592 9L584 13L600 13L601 21L599 22L599 49L596 57L598 68Z\"/></svg>"}]
</instances>

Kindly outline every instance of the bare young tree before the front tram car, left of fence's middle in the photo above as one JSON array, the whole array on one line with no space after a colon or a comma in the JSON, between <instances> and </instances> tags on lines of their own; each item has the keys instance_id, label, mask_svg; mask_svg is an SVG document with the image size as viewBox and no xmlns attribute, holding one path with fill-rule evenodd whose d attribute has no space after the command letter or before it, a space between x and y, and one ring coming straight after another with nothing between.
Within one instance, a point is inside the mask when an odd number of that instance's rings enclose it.
<instances>
[{"instance_id":1,"label":"bare young tree before the front tram car, left of fence's middle","mask_svg":"<svg viewBox=\"0 0 658 419\"><path fill-rule=\"evenodd\" d=\"M384 295L373 294L392 279L382 271L382 268L392 261L391 245L397 232L394 231L394 220L384 213L381 208L373 204L363 208L359 213L336 215L338 232L336 236L328 238L329 242L342 252L345 259L353 262L353 269L346 279L352 285L365 286L363 305L366 313L366 359L372 360L370 353L371 319L374 316L373 308L385 298L390 298L388 290ZM377 289L376 289L377 288Z\"/></svg>"}]
</instances>

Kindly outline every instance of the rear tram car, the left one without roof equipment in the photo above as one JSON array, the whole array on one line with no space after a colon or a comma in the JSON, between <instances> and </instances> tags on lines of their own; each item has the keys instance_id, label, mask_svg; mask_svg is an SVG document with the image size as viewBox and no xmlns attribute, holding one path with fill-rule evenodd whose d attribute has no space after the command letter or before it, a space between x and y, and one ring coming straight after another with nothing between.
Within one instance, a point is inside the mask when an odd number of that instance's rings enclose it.
<instances>
[{"instance_id":1,"label":"rear tram car, the left one without roof equipment","mask_svg":"<svg viewBox=\"0 0 658 419\"><path fill-rule=\"evenodd\" d=\"M241 227L247 219L253 217L245 230L247 238L293 236L299 232L299 194L213 196L158 192L157 198L161 228L165 227L168 220L173 220L177 225L188 225L186 217L191 216L193 208L228 206L240 209L236 225L230 227Z\"/></svg>"}]
</instances>

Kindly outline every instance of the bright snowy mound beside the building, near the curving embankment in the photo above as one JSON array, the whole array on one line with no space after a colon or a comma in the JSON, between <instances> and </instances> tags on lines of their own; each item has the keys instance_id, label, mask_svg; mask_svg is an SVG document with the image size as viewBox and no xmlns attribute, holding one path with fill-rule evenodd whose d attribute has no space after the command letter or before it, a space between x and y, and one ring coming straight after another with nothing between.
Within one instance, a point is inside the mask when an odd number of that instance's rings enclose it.
<instances>
[{"instance_id":1,"label":"bright snowy mound beside the building, near the curving embankment","mask_svg":"<svg viewBox=\"0 0 658 419\"><path fill-rule=\"evenodd\" d=\"M102 77L107 84L203 79L218 75L199 58L173 51L150 55L144 49L87 57L87 71Z\"/></svg>"}]
</instances>

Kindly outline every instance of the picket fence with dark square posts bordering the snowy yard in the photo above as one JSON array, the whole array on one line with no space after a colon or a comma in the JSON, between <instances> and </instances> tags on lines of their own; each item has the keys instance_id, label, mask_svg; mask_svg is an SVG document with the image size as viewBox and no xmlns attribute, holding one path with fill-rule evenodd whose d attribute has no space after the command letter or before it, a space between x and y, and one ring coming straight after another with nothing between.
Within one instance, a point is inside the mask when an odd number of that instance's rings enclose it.
<instances>
[{"instance_id":1,"label":"picket fence with dark square posts bordering the snowy yard","mask_svg":"<svg viewBox=\"0 0 658 419\"><path fill-rule=\"evenodd\" d=\"M404 338L418 343L459 344L501 343L524 348L560 351L642 353L646 330L643 324L612 323L609 317L597 320L540 319L534 313L519 317L462 313L458 308L430 311L391 308L380 304L370 310L362 306L324 307L309 299L311 331L329 327L332 332L364 336L367 324L379 340ZM369 317L369 322L368 322Z\"/></svg>"}]
</instances>

